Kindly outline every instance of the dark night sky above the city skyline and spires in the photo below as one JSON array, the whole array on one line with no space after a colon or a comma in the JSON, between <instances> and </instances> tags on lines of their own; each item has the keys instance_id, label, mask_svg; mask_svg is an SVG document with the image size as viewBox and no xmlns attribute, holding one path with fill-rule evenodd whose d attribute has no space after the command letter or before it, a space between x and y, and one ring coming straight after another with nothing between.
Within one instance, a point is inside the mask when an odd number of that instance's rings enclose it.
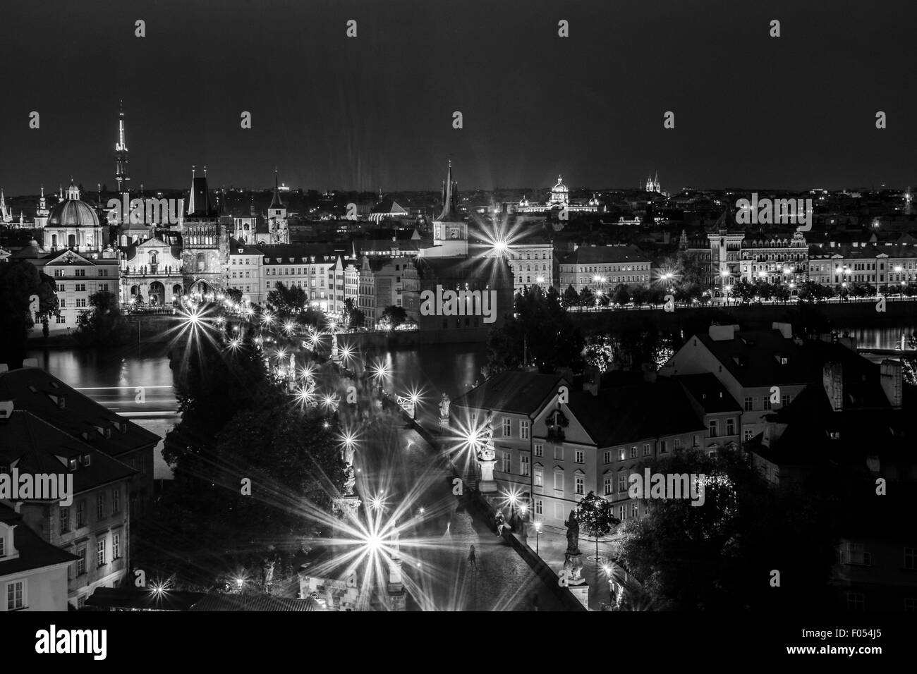
<instances>
[{"instance_id":1,"label":"dark night sky above the city skyline and spires","mask_svg":"<svg viewBox=\"0 0 917 674\"><path fill-rule=\"evenodd\" d=\"M267 187L276 165L294 188L435 190L449 156L460 190L655 171L670 192L902 188L915 17L912 0L9 2L0 186L114 189L123 98L133 190L180 187L192 164L211 187Z\"/></svg>"}]
</instances>

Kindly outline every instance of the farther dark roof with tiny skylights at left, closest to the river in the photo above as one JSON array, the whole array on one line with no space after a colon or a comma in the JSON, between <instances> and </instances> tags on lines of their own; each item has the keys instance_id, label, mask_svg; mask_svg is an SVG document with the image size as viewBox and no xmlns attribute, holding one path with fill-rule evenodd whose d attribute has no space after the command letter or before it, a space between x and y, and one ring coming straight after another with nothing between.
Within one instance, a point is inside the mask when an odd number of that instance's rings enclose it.
<instances>
[{"instance_id":1,"label":"farther dark roof with tiny skylights at left, closest to the river","mask_svg":"<svg viewBox=\"0 0 917 674\"><path fill-rule=\"evenodd\" d=\"M61 396L63 407L59 403ZM110 457L139 447L155 446L160 441L160 436L111 412L39 368L0 372L0 400L13 401L15 409L28 410ZM111 433L105 434L105 428L111 428Z\"/></svg>"}]
</instances>

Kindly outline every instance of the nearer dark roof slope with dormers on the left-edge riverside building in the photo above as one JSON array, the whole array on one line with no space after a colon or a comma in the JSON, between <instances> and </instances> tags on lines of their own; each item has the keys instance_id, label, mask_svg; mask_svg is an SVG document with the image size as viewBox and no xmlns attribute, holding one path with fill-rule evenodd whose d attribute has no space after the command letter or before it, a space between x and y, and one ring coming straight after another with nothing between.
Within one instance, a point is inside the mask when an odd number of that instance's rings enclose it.
<instances>
[{"instance_id":1,"label":"nearer dark roof slope with dormers on the left-edge riverside building","mask_svg":"<svg viewBox=\"0 0 917 674\"><path fill-rule=\"evenodd\" d=\"M137 472L30 412L14 409L8 419L0 421L0 463L16 463L20 473L68 472L67 464L58 457L79 459L86 454L90 456L89 465L81 462L77 470L71 471L73 493L125 480Z\"/></svg>"}]
</instances>

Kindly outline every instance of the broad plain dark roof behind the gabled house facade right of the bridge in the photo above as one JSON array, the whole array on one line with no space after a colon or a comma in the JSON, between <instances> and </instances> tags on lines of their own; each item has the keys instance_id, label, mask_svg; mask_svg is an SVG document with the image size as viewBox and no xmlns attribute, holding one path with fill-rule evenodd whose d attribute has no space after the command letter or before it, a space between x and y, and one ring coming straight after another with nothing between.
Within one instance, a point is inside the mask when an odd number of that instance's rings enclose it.
<instances>
[{"instance_id":1,"label":"broad plain dark roof behind the gabled house facade right of the bridge","mask_svg":"<svg viewBox=\"0 0 917 674\"><path fill-rule=\"evenodd\" d=\"M684 389L665 378L602 389L597 395L571 392L567 406L597 447L704 429Z\"/></svg>"}]
</instances>

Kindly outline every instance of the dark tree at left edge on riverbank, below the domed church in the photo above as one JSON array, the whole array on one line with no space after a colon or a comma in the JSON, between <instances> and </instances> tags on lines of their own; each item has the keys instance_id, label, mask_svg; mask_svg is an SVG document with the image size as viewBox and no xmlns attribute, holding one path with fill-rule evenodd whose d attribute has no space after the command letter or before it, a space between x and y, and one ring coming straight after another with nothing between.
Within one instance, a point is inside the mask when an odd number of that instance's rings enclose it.
<instances>
[{"instance_id":1,"label":"dark tree at left edge on riverbank, below the domed church","mask_svg":"<svg viewBox=\"0 0 917 674\"><path fill-rule=\"evenodd\" d=\"M0 263L0 362L10 370L21 368L26 358L26 338L36 319L30 310L32 297L39 301L39 320L59 315L54 280L48 274L28 260Z\"/></svg>"}]
</instances>

